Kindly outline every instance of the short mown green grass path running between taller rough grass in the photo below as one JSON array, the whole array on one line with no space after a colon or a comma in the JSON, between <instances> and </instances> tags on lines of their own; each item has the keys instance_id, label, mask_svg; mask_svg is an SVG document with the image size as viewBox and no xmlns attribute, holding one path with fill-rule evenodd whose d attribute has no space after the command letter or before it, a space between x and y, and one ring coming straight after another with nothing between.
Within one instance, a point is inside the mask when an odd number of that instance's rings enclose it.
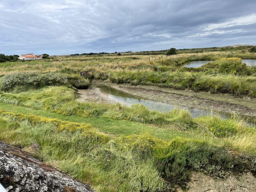
<instances>
[{"instance_id":1,"label":"short mown green grass path running between taller rough grass","mask_svg":"<svg viewBox=\"0 0 256 192\"><path fill-rule=\"evenodd\" d=\"M4 111L22 113L22 114L34 114L37 116L43 116L46 118L57 118L63 121L79 122L79 123L90 123L94 128L101 132L108 134L118 135L118 136L128 136L131 134L141 135L141 134L152 134L156 138L171 140L176 136L183 137L200 137L199 134L188 132L180 132L177 130L165 129L155 126L148 125L144 123L131 122L126 120L114 120L111 118L97 117L97 118L84 118L76 115L66 116L56 113L47 112L44 110L34 110L22 106L6 105L0 103L0 108Z\"/></svg>"}]
</instances>

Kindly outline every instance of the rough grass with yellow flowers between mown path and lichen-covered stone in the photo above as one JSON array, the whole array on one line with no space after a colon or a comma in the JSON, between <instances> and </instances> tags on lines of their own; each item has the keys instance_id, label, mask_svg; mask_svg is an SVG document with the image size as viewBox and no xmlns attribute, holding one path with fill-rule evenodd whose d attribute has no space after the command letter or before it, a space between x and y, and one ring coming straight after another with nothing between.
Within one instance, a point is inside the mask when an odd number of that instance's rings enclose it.
<instances>
[{"instance_id":1,"label":"rough grass with yellow flowers between mown path and lichen-covered stone","mask_svg":"<svg viewBox=\"0 0 256 192\"><path fill-rule=\"evenodd\" d=\"M25 148L99 191L166 191L174 184L186 189L191 169L216 178L224 178L227 171L255 169L255 133L248 130L223 140L209 136L163 140L149 134L109 135L88 124L35 115L0 114L1 140Z\"/></svg>"}]
</instances>

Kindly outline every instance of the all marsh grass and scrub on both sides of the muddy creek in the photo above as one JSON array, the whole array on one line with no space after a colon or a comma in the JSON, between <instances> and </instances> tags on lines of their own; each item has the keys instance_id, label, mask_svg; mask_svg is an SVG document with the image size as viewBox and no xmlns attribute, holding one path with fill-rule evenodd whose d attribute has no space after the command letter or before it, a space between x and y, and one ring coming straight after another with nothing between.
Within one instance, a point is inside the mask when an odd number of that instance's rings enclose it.
<instances>
[{"instance_id":1,"label":"all marsh grass and scrub on both sides of the muddy creek","mask_svg":"<svg viewBox=\"0 0 256 192\"><path fill-rule=\"evenodd\" d=\"M76 88L93 79L256 97L256 68L241 62L256 59L248 49L1 63L0 140L98 191L185 190L191 170L214 178L256 174L256 131L237 114L192 118L180 108L159 113L143 105L76 101ZM213 62L182 67L198 60Z\"/></svg>"}]
</instances>

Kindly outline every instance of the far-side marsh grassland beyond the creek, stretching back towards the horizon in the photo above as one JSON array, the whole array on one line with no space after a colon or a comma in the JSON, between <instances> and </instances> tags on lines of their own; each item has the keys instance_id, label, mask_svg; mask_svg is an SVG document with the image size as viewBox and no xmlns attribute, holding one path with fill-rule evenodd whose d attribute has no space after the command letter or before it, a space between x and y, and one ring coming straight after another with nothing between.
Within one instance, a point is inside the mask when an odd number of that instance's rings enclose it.
<instances>
[{"instance_id":1,"label":"far-side marsh grassland beyond the creek, stretching back towards the horizon","mask_svg":"<svg viewBox=\"0 0 256 192\"><path fill-rule=\"evenodd\" d=\"M256 59L256 54L215 51L173 56L81 56L63 58L60 62L53 58L5 64L1 67L1 75L6 79L6 75L20 71L40 74L51 71L77 88L87 88L91 79L109 78L112 83L156 85L254 98L256 67L246 66L240 58ZM213 62L200 68L182 68L183 63L198 60Z\"/></svg>"}]
</instances>

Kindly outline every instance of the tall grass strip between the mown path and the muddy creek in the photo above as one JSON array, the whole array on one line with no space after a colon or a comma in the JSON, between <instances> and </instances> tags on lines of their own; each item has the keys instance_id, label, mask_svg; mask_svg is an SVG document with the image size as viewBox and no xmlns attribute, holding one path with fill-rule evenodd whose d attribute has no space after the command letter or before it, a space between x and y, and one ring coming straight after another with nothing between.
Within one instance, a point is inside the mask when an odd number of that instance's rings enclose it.
<instances>
[{"instance_id":1,"label":"tall grass strip between the mown path and the muddy creek","mask_svg":"<svg viewBox=\"0 0 256 192\"><path fill-rule=\"evenodd\" d=\"M157 126L171 127L177 130L196 130L215 137L228 137L236 133L253 132L250 125L238 115L229 119L210 114L193 119L188 110L174 108L169 113L150 111L141 104L127 107L117 104L80 103L75 101L76 91L64 86L46 87L18 94L0 92L0 100L6 104L16 104L41 109L63 115L77 115L85 118L111 118Z\"/></svg>"}]
</instances>

